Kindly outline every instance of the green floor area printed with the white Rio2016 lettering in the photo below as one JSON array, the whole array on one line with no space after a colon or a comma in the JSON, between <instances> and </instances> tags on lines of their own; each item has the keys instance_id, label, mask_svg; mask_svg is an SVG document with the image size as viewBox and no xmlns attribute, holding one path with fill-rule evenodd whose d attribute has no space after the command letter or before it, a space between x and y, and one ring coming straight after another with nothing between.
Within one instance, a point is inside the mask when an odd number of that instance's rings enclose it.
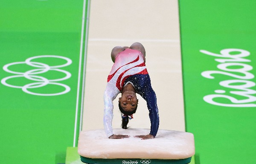
<instances>
[{"instance_id":1,"label":"green floor area printed with the white Rio2016 lettering","mask_svg":"<svg viewBox=\"0 0 256 164\"><path fill-rule=\"evenodd\" d=\"M254 164L256 1L179 0L179 8L195 163Z\"/></svg>"}]
</instances>

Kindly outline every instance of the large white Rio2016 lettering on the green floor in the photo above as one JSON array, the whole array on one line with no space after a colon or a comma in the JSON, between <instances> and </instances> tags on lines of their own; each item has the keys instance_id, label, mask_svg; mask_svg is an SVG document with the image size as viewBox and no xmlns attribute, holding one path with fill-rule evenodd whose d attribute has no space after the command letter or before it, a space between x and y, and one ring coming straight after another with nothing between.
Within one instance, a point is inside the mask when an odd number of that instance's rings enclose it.
<instances>
[{"instance_id":1,"label":"large white Rio2016 lettering on the green floor","mask_svg":"<svg viewBox=\"0 0 256 164\"><path fill-rule=\"evenodd\" d=\"M201 53L207 54L210 56L218 57L215 59L216 62L220 62L217 65L217 68L221 71L204 71L201 73L207 79L215 79L214 74L225 75L228 79L219 82L221 90L217 89L214 92L218 94L210 94L204 96L204 101L218 106L224 107L256 107L256 90L253 90L252 87L255 86L255 82L252 81L254 75L248 71L253 70L253 67L250 65L251 60L244 59L250 55L249 51L228 48L220 51L220 54L215 54L206 50L200 50ZM236 54L234 54L236 53ZM239 53L239 54L237 54ZM231 89L227 95L228 89ZM229 89L229 90L230 90ZM229 100L231 103L218 102L220 99Z\"/></svg>"}]
</instances>

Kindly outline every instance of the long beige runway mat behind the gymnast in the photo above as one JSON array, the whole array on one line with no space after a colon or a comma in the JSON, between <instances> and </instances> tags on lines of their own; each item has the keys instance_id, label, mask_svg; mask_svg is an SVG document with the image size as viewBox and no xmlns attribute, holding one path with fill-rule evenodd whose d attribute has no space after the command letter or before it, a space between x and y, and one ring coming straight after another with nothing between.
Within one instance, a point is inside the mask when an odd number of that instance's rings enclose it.
<instances>
[{"instance_id":1,"label":"long beige runway mat behind the gymnast","mask_svg":"<svg viewBox=\"0 0 256 164\"><path fill-rule=\"evenodd\" d=\"M113 47L141 42L157 95L160 127L185 130L177 0L91 0L82 129L103 128L103 93L111 71ZM120 97L119 95L117 98ZM150 128L145 100L128 126ZM113 128L120 128L118 99Z\"/></svg>"}]
</instances>

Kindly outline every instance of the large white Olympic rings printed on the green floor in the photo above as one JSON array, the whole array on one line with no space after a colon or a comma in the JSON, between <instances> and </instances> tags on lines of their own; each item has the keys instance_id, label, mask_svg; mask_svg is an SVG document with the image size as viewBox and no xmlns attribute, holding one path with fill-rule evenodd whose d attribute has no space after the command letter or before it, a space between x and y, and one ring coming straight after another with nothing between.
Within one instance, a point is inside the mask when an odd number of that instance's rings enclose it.
<instances>
[{"instance_id":1,"label":"large white Olympic rings printed on the green floor","mask_svg":"<svg viewBox=\"0 0 256 164\"><path fill-rule=\"evenodd\" d=\"M44 64L44 63L41 63L41 62L32 62L33 59L44 58L44 57L64 59L64 60L66 60L66 63L63 64L63 65L50 66L50 65L47 65L47 64ZM56 96L56 95L65 94L65 93L68 93L70 91L70 87L67 86L67 85L58 83L58 81L69 79L71 77L71 74L68 71L64 71L64 70L61 70L61 69L58 69L58 68L66 67L66 66L70 65L71 63L72 63L71 59L69 59L67 57L61 57L61 56L55 56L55 55L41 55L41 56L30 57L30 58L26 59L25 62L12 62L12 63L4 65L3 70L6 71L6 72L9 72L11 74L17 74L17 75L5 77L1 80L1 83L3 85L8 86L8 87L21 88L23 90L23 92L29 93L29 94L32 94L32 95ZM29 66L35 67L36 69L32 69L32 70L26 71L26 72L16 72L16 71L9 70L9 66L18 65L18 64L27 64ZM47 71L62 72L64 74L66 74L66 76L63 77L63 78L60 78L60 79L47 79L45 77L36 75L36 74L43 74ZM6 82L8 79L19 78L19 77L25 77L26 79L33 80L33 81L36 81L36 82L29 83L29 84L26 84L26 85L23 85L23 86L11 85L11 84L8 84ZM62 92L59 92L59 93L46 93L46 94L44 94L44 93L35 93L35 92L32 92L32 91L28 90L28 89L32 89L32 88L44 87L46 85L62 86L62 87L65 88L65 90L62 91Z\"/></svg>"}]
</instances>

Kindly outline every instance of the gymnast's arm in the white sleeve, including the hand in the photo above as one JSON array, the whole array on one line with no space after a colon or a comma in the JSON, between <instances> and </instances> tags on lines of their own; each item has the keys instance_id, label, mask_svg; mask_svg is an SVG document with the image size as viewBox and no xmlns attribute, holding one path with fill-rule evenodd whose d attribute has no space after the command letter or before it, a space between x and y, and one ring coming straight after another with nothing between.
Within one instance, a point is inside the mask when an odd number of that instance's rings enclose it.
<instances>
[{"instance_id":1,"label":"gymnast's arm in the white sleeve, including the hand","mask_svg":"<svg viewBox=\"0 0 256 164\"><path fill-rule=\"evenodd\" d=\"M127 135L114 135L112 129L112 119L113 119L113 100L118 95L119 90L116 88L115 85L111 83L107 83L107 87L104 92L104 129L106 135L109 139L122 139L128 138Z\"/></svg>"}]
</instances>

